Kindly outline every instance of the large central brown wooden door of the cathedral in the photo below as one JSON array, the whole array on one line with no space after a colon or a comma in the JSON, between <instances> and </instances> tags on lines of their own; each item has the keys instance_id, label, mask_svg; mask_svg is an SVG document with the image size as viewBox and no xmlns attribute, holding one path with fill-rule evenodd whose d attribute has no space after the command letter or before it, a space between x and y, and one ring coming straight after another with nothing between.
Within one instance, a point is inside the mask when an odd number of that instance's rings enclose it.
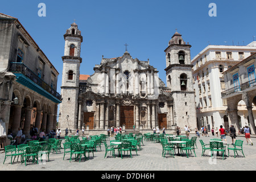
<instances>
[{"instance_id":1,"label":"large central brown wooden door of the cathedral","mask_svg":"<svg viewBox=\"0 0 256 182\"><path fill-rule=\"evenodd\" d=\"M125 125L126 130L132 130L134 124L134 107L121 106L120 107L120 125Z\"/></svg>"}]
</instances>

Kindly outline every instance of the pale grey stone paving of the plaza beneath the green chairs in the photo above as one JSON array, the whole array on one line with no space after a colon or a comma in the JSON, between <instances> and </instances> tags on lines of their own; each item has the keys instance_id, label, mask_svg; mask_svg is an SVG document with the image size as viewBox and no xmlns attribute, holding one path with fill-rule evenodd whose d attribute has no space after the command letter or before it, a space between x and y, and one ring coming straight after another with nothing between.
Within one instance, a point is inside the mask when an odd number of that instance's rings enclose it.
<instances>
[{"instance_id":1,"label":"pale grey stone paving of the plaza beneath the green chairs","mask_svg":"<svg viewBox=\"0 0 256 182\"><path fill-rule=\"evenodd\" d=\"M189 138L195 135L190 135ZM209 143L211 138L217 137L200 137L197 138L197 149L196 157L194 154L189 155L189 158L184 154L182 156L167 156L167 158L162 158L162 146L160 143L154 143L151 141L144 141L144 146L142 150L138 150L138 156L136 152L132 152L133 158L130 155L125 155L123 159L113 158L108 152L106 158L105 146L102 143L102 151L94 152L94 158L90 154L90 159L84 162L82 158L81 163L79 161L75 162L72 160L69 162L69 154L65 156L63 160L63 150L60 154L53 154L51 152L49 156L49 161L43 162L41 164L32 164L28 162L25 167L24 164L20 162L10 163L10 157L6 159L5 164L3 160L5 158L5 153L2 151L0 153L0 171L186 171L186 170L196 170L196 171L232 171L232 170L256 170L256 138L251 138L254 145L246 145L246 139L244 137L237 137L237 139L243 140L243 152L238 151L239 156L234 158L233 151L230 151L230 156L228 157L228 150L226 150L226 158L222 160L222 156L217 156L217 158L210 159L209 150L205 151L205 155L201 156L202 148L199 142L202 139L205 143ZM226 137L228 143L231 143L231 138ZM114 139L110 137L110 140ZM109 144L109 141L107 141ZM97 147L100 150L100 147ZM16 161L16 160L15 160Z\"/></svg>"}]
</instances>

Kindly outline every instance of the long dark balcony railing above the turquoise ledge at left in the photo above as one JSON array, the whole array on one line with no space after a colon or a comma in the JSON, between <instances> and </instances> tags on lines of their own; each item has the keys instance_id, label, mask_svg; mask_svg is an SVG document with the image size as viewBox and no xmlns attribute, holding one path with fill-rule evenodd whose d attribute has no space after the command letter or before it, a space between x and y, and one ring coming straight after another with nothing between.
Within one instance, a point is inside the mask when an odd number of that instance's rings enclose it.
<instances>
[{"instance_id":1,"label":"long dark balcony railing above the turquoise ledge at left","mask_svg":"<svg viewBox=\"0 0 256 182\"><path fill-rule=\"evenodd\" d=\"M32 72L26 65L23 63L11 63L10 72L13 73L22 73L24 76L28 77L31 81L35 82L36 85L39 85L41 88L46 90L52 96L56 97L61 101L61 96L56 92L55 89L51 88L45 81L38 77L34 72Z\"/></svg>"}]
</instances>

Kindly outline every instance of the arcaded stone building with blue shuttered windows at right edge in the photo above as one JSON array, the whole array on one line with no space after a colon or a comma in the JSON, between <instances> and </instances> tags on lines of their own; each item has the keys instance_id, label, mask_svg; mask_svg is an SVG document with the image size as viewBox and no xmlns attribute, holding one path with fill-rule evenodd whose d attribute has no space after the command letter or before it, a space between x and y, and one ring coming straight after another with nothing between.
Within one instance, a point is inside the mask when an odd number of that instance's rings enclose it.
<instances>
[{"instance_id":1,"label":"arcaded stone building with blue shuttered windows at right edge","mask_svg":"<svg viewBox=\"0 0 256 182\"><path fill-rule=\"evenodd\" d=\"M247 125L252 134L256 133L255 59L256 53L253 53L225 71L223 75L226 88L221 93L222 99L227 101L229 125L233 124L237 129ZM241 109L241 103L245 105L244 109Z\"/></svg>"}]
</instances>

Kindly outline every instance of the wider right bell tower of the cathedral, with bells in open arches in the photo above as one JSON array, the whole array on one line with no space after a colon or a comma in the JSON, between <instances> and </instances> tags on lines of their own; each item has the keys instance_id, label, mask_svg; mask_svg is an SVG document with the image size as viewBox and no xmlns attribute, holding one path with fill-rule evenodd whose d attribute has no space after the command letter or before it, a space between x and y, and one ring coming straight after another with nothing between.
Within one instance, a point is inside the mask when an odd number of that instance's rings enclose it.
<instances>
[{"instance_id":1,"label":"wider right bell tower of the cathedral, with bells in open arches","mask_svg":"<svg viewBox=\"0 0 256 182\"><path fill-rule=\"evenodd\" d=\"M185 125L195 129L196 106L193 90L191 45L184 42L178 32L172 36L166 52L167 87L174 98L174 123L183 128Z\"/></svg>"}]
</instances>

